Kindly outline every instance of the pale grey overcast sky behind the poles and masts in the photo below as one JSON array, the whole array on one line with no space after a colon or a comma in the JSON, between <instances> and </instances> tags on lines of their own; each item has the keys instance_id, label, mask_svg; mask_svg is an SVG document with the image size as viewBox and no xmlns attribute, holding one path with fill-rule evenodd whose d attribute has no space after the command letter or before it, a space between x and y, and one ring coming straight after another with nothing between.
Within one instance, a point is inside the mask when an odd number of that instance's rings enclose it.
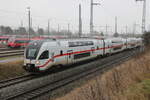
<instances>
[{"instance_id":1,"label":"pale grey overcast sky behind the poles and masts","mask_svg":"<svg viewBox=\"0 0 150 100\"><path fill-rule=\"evenodd\" d=\"M142 2L135 0L93 0L100 2L100 6L94 6L94 29L104 31L101 26L109 25L109 31L114 32L115 16L118 17L118 31L133 30L133 24L141 25ZM78 30L78 6L82 5L83 31L89 32L90 0L0 0L0 25L9 25L14 28L20 26L21 20L25 27L28 26L27 7L31 7L32 26L34 28L47 27L47 20L51 21L51 28L57 30L67 29L70 23L71 30ZM147 2L147 28L150 24L149 2ZM137 25L137 31L140 26Z\"/></svg>"}]
</instances>

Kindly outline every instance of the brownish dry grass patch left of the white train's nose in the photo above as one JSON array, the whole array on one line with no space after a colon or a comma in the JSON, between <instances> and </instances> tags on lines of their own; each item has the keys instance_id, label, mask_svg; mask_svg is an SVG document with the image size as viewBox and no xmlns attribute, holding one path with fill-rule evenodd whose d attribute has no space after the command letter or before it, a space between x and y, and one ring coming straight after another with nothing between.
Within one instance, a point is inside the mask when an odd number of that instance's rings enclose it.
<instances>
[{"instance_id":1,"label":"brownish dry grass patch left of the white train's nose","mask_svg":"<svg viewBox=\"0 0 150 100\"><path fill-rule=\"evenodd\" d=\"M0 64L0 80L25 74L25 71L23 70L22 65L23 65L23 61L1 63Z\"/></svg>"}]
</instances>

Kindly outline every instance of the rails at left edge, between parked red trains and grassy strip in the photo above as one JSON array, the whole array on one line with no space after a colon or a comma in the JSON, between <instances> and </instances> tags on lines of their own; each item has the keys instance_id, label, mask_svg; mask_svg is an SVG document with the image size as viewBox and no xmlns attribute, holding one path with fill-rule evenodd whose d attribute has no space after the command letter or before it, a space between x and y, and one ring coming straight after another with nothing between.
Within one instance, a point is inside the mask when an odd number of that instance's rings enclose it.
<instances>
[{"instance_id":1,"label":"rails at left edge, between parked red trains and grassy strip","mask_svg":"<svg viewBox=\"0 0 150 100\"><path fill-rule=\"evenodd\" d=\"M0 57L9 57L9 56L16 56L16 55L23 55L24 54L24 50L15 50L15 49L11 49L9 51L6 50L2 50L0 51Z\"/></svg>"}]
</instances>

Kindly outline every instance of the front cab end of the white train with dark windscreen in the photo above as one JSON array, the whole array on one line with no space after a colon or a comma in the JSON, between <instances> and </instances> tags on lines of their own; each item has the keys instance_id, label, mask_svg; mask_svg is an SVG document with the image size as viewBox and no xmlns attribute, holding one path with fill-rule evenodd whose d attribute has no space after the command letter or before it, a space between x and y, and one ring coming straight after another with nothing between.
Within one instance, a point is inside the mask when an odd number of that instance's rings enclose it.
<instances>
[{"instance_id":1,"label":"front cab end of the white train with dark windscreen","mask_svg":"<svg viewBox=\"0 0 150 100\"><path fill-rule=\"evenodd\" d=\"M25 60L23 68L28 72L42 72L50 64L49 51L41 47L41 43L32 43L25 50ZM42 50L43 49L43 50Z\"/></svg>"}]
</instances>

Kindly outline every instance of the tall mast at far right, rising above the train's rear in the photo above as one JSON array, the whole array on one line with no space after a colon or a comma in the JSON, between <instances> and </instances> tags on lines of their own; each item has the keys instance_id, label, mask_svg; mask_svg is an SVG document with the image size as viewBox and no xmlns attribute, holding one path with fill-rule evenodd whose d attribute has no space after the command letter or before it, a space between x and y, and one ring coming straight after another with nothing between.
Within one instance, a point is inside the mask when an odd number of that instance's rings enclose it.
<instances>
[{"instance_id":1,"label":"tall mast at far right, rising above the train's rear","mask_svg":"<svg viewBox=\"0 0 150 100\"><path fill-rule=\"evenodd\" d=\"M143 16L142 16L142 33L146 31L146 0L136 0L136 1L143 1Z\"/></svg>"}]
</instances>

